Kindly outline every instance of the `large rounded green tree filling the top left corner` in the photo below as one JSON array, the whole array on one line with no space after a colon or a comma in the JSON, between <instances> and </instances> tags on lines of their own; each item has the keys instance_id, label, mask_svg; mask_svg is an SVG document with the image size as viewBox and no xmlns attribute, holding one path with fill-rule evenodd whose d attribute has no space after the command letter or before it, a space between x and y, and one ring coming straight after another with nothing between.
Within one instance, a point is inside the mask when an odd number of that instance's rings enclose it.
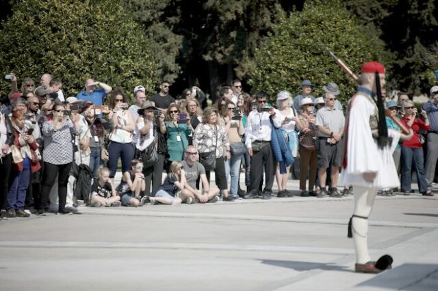
<instances>
[{"instance_id":1,"label":"large rounded green tree filling the top left corner","mask_svg":"<svg viewBox=\"0 0 438 291\"><path fill-rule=\"evenodd\" d=\"M143 28L114 0L21 0L0 31L0 68L39 79L50 72L76 94L92 77L131 92L157 83ZM21 80L19 80L21 81ZM3 92L7 92L4 81Z\"/></svg>"}]
</instances>

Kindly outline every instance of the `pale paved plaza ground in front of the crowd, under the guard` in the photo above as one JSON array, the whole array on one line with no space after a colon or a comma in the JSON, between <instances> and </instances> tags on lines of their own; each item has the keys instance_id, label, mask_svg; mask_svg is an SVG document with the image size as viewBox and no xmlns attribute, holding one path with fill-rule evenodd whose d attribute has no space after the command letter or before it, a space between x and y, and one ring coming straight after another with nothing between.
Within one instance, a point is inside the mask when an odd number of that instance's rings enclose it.
<instances>
[{"instance_id":1,"label":"pale paved plaza ground in front of the crowd, under the guard","mask_svg":"<svg viewBox=\"0 0 438 291\"><path fill-rule=\"evenodd\" d=\"M0 290L438 290L437 196L377 197L370 249L394 257L379 275L353 272L352 208L274 197L2 220Z\"/></svg>"}]
</instances>

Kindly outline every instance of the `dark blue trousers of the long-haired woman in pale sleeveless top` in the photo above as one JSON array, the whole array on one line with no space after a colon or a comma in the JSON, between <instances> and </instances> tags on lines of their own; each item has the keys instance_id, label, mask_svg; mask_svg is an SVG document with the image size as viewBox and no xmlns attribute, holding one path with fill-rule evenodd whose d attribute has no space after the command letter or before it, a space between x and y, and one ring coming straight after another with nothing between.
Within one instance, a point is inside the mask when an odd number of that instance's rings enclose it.
<instances>
[{"instance_id":1,"label":"dark blue trousers of the long-haired woman in pale sleeveless top","mask_svg":"<svg viewBox=\"0 0 438 291\"><path fill-rule=\"evenodd\" d=\"M108 146L108 168L110 169L110 178L116 176L118 158L122 158L122 173L131 169L131 161L134 158L133 143L116 143L110 142Z\"/></svg>"}]
</instances>

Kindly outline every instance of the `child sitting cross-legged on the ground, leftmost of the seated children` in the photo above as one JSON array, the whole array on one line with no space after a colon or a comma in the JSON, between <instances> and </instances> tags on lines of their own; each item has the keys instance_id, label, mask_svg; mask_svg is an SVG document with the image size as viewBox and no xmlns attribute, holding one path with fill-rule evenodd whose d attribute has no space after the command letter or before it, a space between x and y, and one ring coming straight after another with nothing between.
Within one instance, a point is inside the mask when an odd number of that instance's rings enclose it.
<instances>
[{"instance_id":1,"label":"child sitting cross-legged on the ground, leftmost of the seated children","mask_svg":"<svg viewBox=\"0 0 438 291\"><path fill-rule=\"evenodd\" d=\"M91 186L91 206L120 206L120 196L117 195L110 178L110 169L100 167L98 170L99 179L94 180Z\"/></svg>"}]
</instances>

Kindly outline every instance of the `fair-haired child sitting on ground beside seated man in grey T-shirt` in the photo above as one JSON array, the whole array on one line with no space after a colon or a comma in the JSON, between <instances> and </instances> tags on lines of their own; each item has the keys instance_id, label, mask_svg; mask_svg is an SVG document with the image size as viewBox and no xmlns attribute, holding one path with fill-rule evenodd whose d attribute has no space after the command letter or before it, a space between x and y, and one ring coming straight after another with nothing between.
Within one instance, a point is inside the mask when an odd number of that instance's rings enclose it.
<instances>
[{"instance_id":1,"label":"fair-haired child sitting on ground beside seated man in grey T-shirt","mask_svg":"<svg viewBox=\"0 0 438 291\"><path fill-rule=\"evenodd\" d=\"M179 161L173 161L170 164L170 173L164 180L163 184L158 187L155 197L149 197L151 202L162 204L181 204L182 200L179 197L179 192L184 189L185 173L183 165Z\"/></svg>"}]
</instances>

